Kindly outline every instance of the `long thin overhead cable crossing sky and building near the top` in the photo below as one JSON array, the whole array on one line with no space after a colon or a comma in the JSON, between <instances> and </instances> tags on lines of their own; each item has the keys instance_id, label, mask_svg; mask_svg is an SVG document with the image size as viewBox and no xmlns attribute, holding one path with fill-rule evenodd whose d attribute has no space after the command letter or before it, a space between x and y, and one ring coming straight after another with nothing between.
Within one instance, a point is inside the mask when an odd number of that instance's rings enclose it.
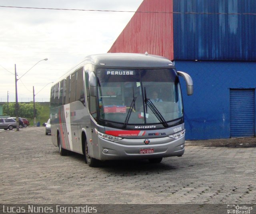
<instances>
[{"instance_id":1,"label":"long thin overhead cable crossing sky and building near the top","mask_svg":"<svg viewBox=\"0 0 256 214\"><path fill-rule=\"evenodd\" d=\"M163 11L130 11L130 10L85 10L85 9L66 9L66 8L34 8L17 6L0 6L2 8L20 9L40 9L40 10L69 10L86 12L127 12L127 13L159 13L159 14L202 14L202 15L256 15L255 13L208 13L208 12L163 12Z\"/></svg>"}]
</instances>

